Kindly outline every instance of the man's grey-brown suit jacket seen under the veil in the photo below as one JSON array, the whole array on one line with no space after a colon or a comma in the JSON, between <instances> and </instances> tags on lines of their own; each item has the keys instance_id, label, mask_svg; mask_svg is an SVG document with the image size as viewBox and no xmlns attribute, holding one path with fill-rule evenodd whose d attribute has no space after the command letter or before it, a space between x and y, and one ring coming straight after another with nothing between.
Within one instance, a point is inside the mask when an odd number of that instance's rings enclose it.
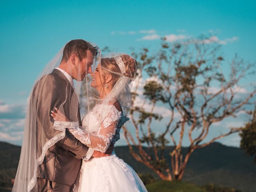
<instances>
[{"instance_id":1,"label":"man's grey-brown suit jacket seen under the veil","mask_svg":"<svg viewBox=\"0 0 256 192\"><path fill-rule=\"evenodd\" d=\"M36 103L36 145L37 157L42 153L42 145L53 136L60 133L53 128L54 120L50 111L54 107L63 105L65 115L70 115L70 99L74 89L67 78L57 69L51 74L42 77L35 85L32 100ZM78 103L78 100L77 100ZM78 120L81 125L80 110L78 107ZM43 142L42 142L43 141ZM37 177L53 182L72 186L80 172L82 158L86 155L88 147L78 141L66 129L66 136L48 149L44 161L38 167Z\"/></svg>"}]
</instances>

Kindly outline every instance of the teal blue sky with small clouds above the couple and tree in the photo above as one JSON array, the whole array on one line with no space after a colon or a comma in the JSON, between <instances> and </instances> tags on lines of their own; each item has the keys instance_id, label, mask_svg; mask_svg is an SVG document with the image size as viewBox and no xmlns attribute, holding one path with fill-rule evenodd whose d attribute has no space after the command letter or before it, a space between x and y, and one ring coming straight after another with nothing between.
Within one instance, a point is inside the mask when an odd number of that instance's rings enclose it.
<instances>
[{"instance_id":1,"label":"teal blue sky with small clouds above the couple and tree","mask_svg":"<svg viewBox=\"0 0 256 192\"><path fill-rule=\"evenodd\" d=\"M256 61L256 2L249 0L0 1L0 141L21 145L26 100L47 62L69 40L130 53L211 34L227 60ZM256 77L248 82L256 81ZM242 125L246 118L220 127ZM210 133L214 136L216 133ZM239 146L237 134L220 140ZM186 142L184 142L186 144ZM122 138L117 145L126 144Z\"/></svg>"}]
</instances>

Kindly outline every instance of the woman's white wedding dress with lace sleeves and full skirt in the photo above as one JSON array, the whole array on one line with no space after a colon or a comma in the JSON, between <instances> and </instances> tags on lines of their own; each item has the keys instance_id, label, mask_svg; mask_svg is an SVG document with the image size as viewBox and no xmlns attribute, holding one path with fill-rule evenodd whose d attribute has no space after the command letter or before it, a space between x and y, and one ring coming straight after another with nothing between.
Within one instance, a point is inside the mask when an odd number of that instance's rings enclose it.
<instances>
[{"instance_id":1,"label":"woman's white wedding dress with lace sleeves and full skirt","mask_svg":"<svg viewBox=\"0 0 256 192\"><path fill-rule=\"evenodd\" d=\"M99 122L104 111L105 118ZM86 146L105 152L111 142L115 143L120 139L120 129L128 119L114 105L102 109L102 104L97 104L82 120L82 128L74 122L70 122L70 126L66 124L66 127L72 127L69 131ZM78 181L74 185L74 192L147 191L136 172L118 158L114 151L107 157L83 160Z\"/></svg>"}]
</instances>

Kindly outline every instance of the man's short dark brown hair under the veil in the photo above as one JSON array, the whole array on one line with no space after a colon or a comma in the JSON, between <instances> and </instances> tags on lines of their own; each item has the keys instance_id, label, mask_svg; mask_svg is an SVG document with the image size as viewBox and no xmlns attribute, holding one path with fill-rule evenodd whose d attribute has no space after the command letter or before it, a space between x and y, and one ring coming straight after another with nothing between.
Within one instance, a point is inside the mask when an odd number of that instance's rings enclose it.
<instances>
[{"instance_id":1,"label":"man's short dark brown hair under the veil","mask_svg":"<svg viewBox=\"0 0 256 192\"><path fill-rule=\"evenodd\" d=\"M67 62L72 54L76 54L79 60L82 60L86 58L87 51L92 52L92 54L96 56L98 54L98 47L94 47L89 42L82 39L71 40L64 47L61 61Z\"/></svg>"}]
</instances>

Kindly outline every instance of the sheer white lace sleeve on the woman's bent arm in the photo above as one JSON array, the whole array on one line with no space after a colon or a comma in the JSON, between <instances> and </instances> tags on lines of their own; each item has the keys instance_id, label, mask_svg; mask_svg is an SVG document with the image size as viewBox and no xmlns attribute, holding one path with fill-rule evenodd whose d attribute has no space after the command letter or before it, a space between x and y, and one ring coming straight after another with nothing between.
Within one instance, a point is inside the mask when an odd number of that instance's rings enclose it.
<instances>
[{"instance_id":1,"label":"sheer white lace sleeve on the woman's bent arm","mask_svg":"<svg viewBox=\"0 0 256 192\"><path fill-rule=\"evenodd\" d=\"M114 106L111 106L105 119L100 124L96 134L86 132L86 130L80 129L78 127L74 128L74 123L70 124L70 126L68 126L67 123L65 125L70 133L75 136L75 138L77 138L80 142L89 148L93 148L94 150L100 152L106 152L112 139L114 138L120 117L121 112L118 111ZM56 124L58 124L58 122Z\"/></svg>"}]
</instances>

